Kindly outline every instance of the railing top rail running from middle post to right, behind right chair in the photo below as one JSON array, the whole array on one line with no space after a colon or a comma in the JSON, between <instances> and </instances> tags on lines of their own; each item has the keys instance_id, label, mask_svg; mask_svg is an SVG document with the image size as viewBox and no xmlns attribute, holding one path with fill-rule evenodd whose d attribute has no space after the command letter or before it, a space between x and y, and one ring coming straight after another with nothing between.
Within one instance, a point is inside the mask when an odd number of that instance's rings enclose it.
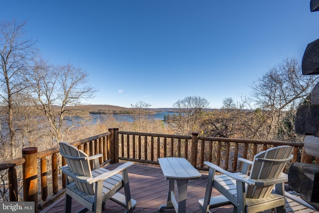
<instances>
[{"instance_id":1,"label":"railing top rail running from middle post to right, behind right chair","mask_svg":"<svg viewBox=\"0 0 319 213\"><path fill-rule=\"evenodd\" d=\"M293 147L303 147L302 142L292 141L266 141L266 140L255 140L255 139L240 139L240 138L219 138L219 137L198 137L201 141L221 141L221 142L234 142L234 143L246 143L246 144L267 144L267 145L289 145Z\"/></svg>"}]
</instances>

